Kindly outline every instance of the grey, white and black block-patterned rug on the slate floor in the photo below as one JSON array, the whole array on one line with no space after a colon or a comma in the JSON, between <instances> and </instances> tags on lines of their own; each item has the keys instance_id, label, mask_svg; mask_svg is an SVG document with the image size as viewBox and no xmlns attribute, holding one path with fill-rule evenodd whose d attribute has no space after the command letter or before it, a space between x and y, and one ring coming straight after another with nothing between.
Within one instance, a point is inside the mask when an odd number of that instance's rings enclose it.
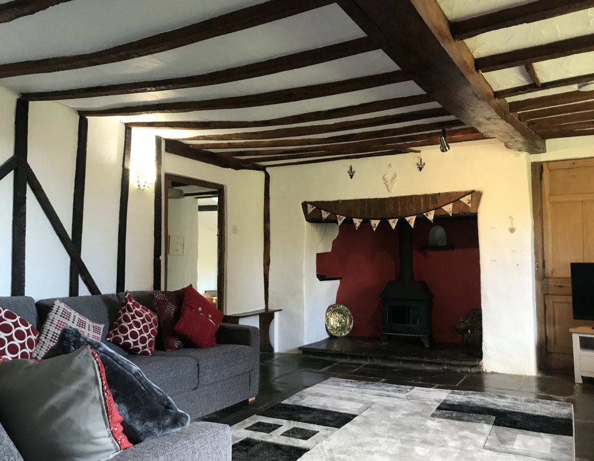
<instances>
[{"instance_id":1,"label":"grey, white and black block-patterned rug on the slate floor","mask_svg":"<svg viewBox=\"0 0 594 461\"><path fill-rule=\"evenodd\" d=\"M233 461L574 459L570 403L339 378L232 432Z\"/></svg>"}]
</instances>

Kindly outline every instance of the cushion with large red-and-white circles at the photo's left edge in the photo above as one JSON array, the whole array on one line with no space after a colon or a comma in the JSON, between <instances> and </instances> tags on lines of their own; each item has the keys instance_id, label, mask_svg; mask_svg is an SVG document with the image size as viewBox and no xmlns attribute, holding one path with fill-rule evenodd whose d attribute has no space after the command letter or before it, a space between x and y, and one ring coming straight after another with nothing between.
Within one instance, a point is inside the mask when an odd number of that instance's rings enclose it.
<instances>
[{"instance_id":1,"label":"cushion with large red-and-white circles at the photo's left edge","mask_svg":"<svg viewBox=\"0 0 594 461\"><path fill-rule=\"evenodd\" d=\"M0 307L0 358L30 359L39 331L23 317Z\"/></svg>"}]
</instances>

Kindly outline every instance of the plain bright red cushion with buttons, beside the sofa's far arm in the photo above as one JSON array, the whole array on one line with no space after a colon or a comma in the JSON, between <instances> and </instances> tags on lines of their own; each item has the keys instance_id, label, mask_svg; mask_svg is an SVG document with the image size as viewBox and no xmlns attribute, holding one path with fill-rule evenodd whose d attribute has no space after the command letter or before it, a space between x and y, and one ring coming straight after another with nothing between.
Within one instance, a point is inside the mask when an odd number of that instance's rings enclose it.
<instances>
[{"instance_id":1,"label":"plain bright red cushion with buttons, beside the sofa's far arm","mask_svg":"<svg viewBox=\"0 0 594 461\"><path fill-rule=\"evenodd\" d=\"M216 346L214 333L223 321L223 312L219 311L203 295L188 286L184 304L175 331L197 348Z\"/></svg>"}]
</instances>

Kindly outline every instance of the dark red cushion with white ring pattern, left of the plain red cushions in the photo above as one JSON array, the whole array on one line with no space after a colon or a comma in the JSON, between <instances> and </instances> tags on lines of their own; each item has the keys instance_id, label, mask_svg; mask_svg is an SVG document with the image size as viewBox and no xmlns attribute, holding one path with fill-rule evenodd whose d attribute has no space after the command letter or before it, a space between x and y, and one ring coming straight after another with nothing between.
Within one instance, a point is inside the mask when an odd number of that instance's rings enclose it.
<instances>
[{"instance_id":1,"label":"dark red cushion with white ring pattern, left of the plain red cushions","mask_svg":"<svg viewBox=\"0 0 594 461\"><path fill-rule=\"evenodd\" d=\"M105 339L137 355L151 355L154 352L157 331L159 316L134 301L130 292L126 291L118 318Z\"/></svg>"}]
</instances>

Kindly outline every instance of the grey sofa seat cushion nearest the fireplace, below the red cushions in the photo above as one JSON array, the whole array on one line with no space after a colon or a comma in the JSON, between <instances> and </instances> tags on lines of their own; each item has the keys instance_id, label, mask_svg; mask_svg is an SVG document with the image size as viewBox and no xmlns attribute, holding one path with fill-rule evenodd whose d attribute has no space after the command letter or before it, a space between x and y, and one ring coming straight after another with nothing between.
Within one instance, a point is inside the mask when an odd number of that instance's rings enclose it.
<instances>
[{"instance_id":1,"label":"grey sofa seat cushion nearest the fireplace, below the red cushions","mask_svg":"<svg viewBox=\"0 0 594 461\"><path fill-rule=\"evenodd\" d=\"M187 357L198 363L198 384L216 383L216 381L240 375L257 368L257 355L249 346L238 344L219 344L214 348L185 348L177 351L155 351L159 357ZM139 365L140 366L140 365Z\"/></svg>"}]
</instances>

